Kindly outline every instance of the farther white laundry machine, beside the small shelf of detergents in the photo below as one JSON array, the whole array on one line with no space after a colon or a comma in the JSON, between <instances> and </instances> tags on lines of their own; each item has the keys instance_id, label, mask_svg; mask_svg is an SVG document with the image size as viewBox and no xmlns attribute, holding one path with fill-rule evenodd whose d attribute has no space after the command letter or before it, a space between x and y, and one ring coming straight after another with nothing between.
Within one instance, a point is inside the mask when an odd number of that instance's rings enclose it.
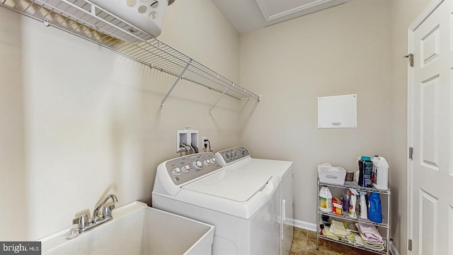
<instances>
[{"instance_id":1,"label":"farther white laundry machine, beside the small shelf of detergents","mask_svg":"<svg viewBox=\"0 0 453 255\"><path fill-rule=\"evenodd\" d=\"M227 171L248 171L260 174L272 174L280 179L280 254L287 255L291 251L294 209L292 189L292 162L253 159L246 147L225 149L215 154L217 161Z\"/></svg>"}]
</instances>

